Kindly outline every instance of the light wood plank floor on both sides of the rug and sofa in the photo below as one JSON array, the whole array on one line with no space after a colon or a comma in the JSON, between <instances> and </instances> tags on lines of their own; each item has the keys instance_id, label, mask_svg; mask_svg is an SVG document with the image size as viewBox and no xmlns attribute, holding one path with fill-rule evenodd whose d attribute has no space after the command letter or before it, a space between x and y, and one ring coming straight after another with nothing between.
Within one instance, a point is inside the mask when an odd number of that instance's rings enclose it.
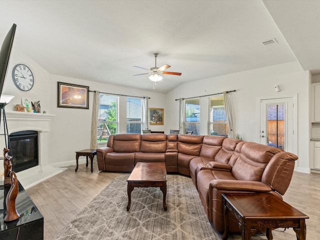
<instances>
[{"instance_id":1,"label":"light wood plank floor on both sides of the rug and sofa","mask_svg":"<svg viewBox=\"0 0 320 240\"><path fill-rule=\"evenodd\" d=\"M97 164L93 172L85 164L79 164L77 172L74 166L33 187L27 189L29 196L44 217L44 239L50 240L60 232L84 206L86 206L115 176L122 173L100 172ZM283 196L284 201L309 216L306 219L306 239L318 239L320 236L320 174L294 172L290 186ZM272 231L274 239L292 240L294 231ZM230 235L229 239L240 239L239 235ZM266 239L263 237L261 239Z\"/></svg>"}]
</instances>

